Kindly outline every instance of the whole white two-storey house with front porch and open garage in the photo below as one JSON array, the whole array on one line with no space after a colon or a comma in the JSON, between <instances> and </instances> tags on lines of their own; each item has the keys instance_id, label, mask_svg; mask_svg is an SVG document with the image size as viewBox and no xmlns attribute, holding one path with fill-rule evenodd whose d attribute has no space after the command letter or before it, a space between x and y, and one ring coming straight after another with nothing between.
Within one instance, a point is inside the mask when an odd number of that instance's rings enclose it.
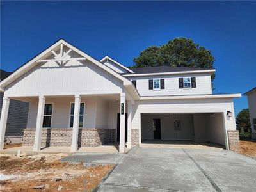
<instances>
[{"instance_id":1,"label":"whole white two-storey house with front porch and open garage","mask_svg":"<svg viewBox=\"0 0 256 192\"><path fill-rule=\"evenodd\" d=\"M97 61L65 40L45 49L1 81L1 148L10 99L29 102L24 145L97 147L119 151L147 140L208 141L239 150L232 99L212 94L215 69L127 68Z\"/></svg>"}]
</instances>

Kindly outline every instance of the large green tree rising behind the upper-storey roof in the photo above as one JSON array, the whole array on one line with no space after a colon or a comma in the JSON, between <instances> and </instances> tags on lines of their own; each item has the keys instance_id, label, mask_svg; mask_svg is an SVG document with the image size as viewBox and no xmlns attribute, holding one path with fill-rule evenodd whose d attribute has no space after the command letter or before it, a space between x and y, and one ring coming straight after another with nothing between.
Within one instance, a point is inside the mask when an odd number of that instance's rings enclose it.
<instances>
[{"instance_id":1,"label":"large green tree rising behind the upper-storey roof","mask_svg":"<svg viewBox=\"0 0 256 192\"><path fill-rule=\"evenodd\" d=\"M161 46L151 46L134 58L133 67L177 66L213 68L215 61L211 51L189 38L175 38ZM212 80L215 75L212 75Z\"/></svg>"}]
</instances>

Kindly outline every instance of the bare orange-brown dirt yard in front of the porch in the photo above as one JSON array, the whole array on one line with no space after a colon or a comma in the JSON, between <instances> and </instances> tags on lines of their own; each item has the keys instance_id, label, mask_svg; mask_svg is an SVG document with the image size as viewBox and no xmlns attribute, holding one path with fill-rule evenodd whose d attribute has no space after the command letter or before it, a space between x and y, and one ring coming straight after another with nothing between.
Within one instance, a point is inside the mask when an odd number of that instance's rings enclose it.
<instances>
[{"instance_id":1,"label":"bare orange-brown dirt yard in front of the porch","mask_svg":"<svg viewBox=\"0 0 256 192\"><path fill-rule=\"evenodd\" d=\"M83 166L58 161L67 154L17 157L0 154L0 191L92 191L113 164ZM37 189L35 189L37 188Z\"/></svg>"}]
</instances>

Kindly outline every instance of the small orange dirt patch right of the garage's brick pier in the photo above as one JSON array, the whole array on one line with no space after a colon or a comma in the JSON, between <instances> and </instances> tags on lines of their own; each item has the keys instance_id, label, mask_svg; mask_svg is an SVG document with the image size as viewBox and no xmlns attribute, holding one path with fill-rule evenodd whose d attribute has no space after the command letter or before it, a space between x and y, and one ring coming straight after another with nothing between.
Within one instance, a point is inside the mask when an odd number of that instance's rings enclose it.
<instances>
[{"instance_id":1,"label":"small orange dirt patch right of the garage's brick pier","mask_svg":"<svg viewBox=\"0 0 256 192\"><path fill-rule=\"evenodd\" d=\"M250 139L241 139L241 154L244 154L249 157L256 159L256 140Z\"/></svg>"}]
</instances>

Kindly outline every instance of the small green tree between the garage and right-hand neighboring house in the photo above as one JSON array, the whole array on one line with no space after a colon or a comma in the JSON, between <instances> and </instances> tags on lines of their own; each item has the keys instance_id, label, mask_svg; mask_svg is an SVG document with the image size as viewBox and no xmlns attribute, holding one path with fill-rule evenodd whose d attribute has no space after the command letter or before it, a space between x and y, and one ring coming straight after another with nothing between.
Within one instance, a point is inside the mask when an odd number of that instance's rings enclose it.
<instances>
[{"instance_id":1,"label":"small green tree between the garage and right-hand neighboring house","mask_svg":"<svg viewBox=\"0 0 256 192\"><path fill-rule=\"evenodd\" d=\"M249 109L243 109L236 116L236 129L242 137L251 136Z\"/></svg>"}]
</instances>

